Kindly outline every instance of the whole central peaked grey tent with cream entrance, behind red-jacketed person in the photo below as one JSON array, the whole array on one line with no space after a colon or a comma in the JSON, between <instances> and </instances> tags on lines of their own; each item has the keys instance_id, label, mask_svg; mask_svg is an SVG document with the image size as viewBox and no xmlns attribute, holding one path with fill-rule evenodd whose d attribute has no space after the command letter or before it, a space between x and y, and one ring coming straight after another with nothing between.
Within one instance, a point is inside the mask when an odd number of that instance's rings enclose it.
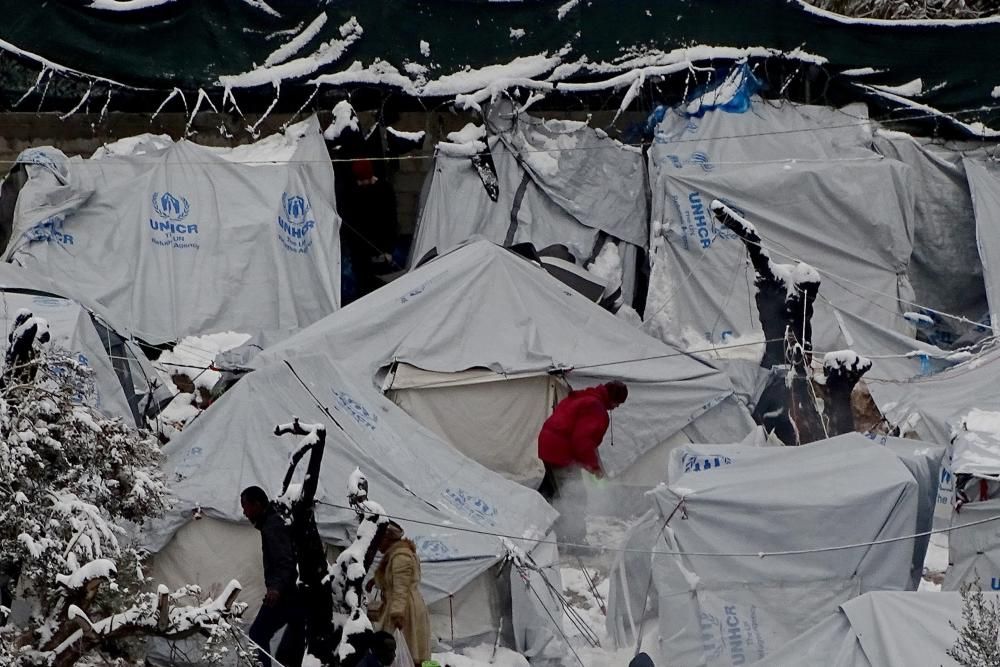
<instances>
[{"instance_id":1,"label":"whole central peaked grey tent with cream entrance, behind red-jacketed person","mask_svg":"<svg viewBox=\"0 0 1000 667\"><path fill-rule=\"evenodd\" d=\"M662 479L660 445L735 441L753 427L710 364L486 241L437 257L254 363L312 352L380 386L467 456L525 481L541 478L536 437L562 381L628 385L600 455L609 476L636 484Z\"/></svg>"}]
</instances>

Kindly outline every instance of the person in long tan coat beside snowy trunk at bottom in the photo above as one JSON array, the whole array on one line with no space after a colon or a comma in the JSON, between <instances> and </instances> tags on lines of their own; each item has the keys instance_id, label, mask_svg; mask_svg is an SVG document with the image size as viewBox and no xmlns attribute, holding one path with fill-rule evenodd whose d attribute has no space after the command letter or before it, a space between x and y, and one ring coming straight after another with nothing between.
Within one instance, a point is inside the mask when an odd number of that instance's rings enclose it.
<instances>
[{"instance_id":1,"label":"person in long tan coat beside snowy trunk at bottom","mask_svg":"<svg viewBox=\"0 0 1000 667\"><path fill-rule=\"evenodd\" d=\"M375 570L374 583L382 591L382 604L368 614L386 632L397 628L417 667L431 659L431 625L427 605L420 595L420 559L412 540L403 538L403 529L390 522L378 550L382 562Z\"/></svg>"}]
</instances>

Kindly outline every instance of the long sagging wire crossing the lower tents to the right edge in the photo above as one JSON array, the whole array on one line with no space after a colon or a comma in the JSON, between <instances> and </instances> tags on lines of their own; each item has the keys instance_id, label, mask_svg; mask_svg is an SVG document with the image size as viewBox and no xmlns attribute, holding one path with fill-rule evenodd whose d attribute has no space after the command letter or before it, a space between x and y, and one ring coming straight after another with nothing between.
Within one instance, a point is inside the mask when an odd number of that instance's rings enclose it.
<instances>
[{"instance_id":1,"label":"long sagging wire crossing the lower tents to the right edge","mask_svg":"<svg viewBox=\"0 0 1000 667\"><path fill-rule=\"evenodd\" d=\"M688 499L684 498L686 502ZM352 510L346 505L338 505L336 503L328 503L324 500L316 501L320 505L326 505L327 507L334 507L336 509ZM591 551L606 552L612 551L615 553L637 553L646 554L650 556L684 556L684 557L705 557L705 558L774 558L776 556L802 556L807 554L817 554L817 553L828 553L831 551L847 551L850 549L862 549L866 547L879 546L882 544L891 544L893 542L904 542L906 540L915 540L921 537L926 537L928 535L938 535L941 533L951 533L953 531L962 530L964 528L971 528L973 526L980 526L986 523L992 523L994 521L1000 521L1000 514L989 517L986 519L980 519L978 521L971 521L969 523L964 523L958 526L949 526L948 528L935 528L932 530L925 530L919 533L912 533L909 535L900 535L897 537L886 537L879 540L872 540L870 542L855 542L851 544L838 544L831 547L812 547L808 549L788 549L785 551L661 551L657 549L632 549L629 547L609 547L609 546L595 546L593 544L580 544L577 542L563 542L560 540L547 540L540 537L527 537L526 535L510 535L505 533L497 533L489 530L481 530L479 528L466 528L464 526L457 526L454 524L444 524L435 523L433 521L423 521L421 519L412 519L404 516L396 516L392 514L385 514L384 516L393 519L395 521L403 521L405 523L415 523L423 526L431 526L433 528L440 528L443 530L457 530L459 532L474 533L476 535L486 535L488 537L498 537L505 538L508 540L521 540L524 542L532 542L534 544L553 544L555 546L563 547L575 547L578 549L589 549Z\"/></svg>"}]
</instances>

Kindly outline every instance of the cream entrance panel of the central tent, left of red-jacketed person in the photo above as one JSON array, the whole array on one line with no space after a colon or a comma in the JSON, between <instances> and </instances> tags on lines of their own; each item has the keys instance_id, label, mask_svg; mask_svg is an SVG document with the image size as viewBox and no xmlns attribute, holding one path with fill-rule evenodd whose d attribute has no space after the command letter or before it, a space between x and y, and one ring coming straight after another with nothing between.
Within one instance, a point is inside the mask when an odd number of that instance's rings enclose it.
<instances>
[{"instance_id":1,"label":"cream entrance panel of the central tent, left of red-jacketed person","mask_svg":"<svg viewBox=\"0 0 1000 667\"><path fill-rule=\"evenodd\" d=\"M543 371L439 373L405 363L395 365L384 387L396 405L455 449L530 485L545 473L538 431L568 391L562 380Z\"/></svg>"}]
</instances>

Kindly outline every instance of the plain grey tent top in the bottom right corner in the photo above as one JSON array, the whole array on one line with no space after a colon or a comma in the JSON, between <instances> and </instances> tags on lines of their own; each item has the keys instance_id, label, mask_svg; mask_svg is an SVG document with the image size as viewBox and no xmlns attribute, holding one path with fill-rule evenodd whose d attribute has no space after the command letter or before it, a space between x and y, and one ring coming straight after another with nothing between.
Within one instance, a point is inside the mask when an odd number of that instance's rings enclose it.
<instances>
[{"instance_id":1,"label":"plain grey tent top in the bottom right corner","mask_svg":"<svg viewBox=\"0 0 1000 667\"><path fill-rule=\"evenodd\" d=\"M988 597L993 597L988 596ZM760 667L959 664L949 655L962 627L958 593L880 591L840 605Z\"/></svg>"}]
</instances>

